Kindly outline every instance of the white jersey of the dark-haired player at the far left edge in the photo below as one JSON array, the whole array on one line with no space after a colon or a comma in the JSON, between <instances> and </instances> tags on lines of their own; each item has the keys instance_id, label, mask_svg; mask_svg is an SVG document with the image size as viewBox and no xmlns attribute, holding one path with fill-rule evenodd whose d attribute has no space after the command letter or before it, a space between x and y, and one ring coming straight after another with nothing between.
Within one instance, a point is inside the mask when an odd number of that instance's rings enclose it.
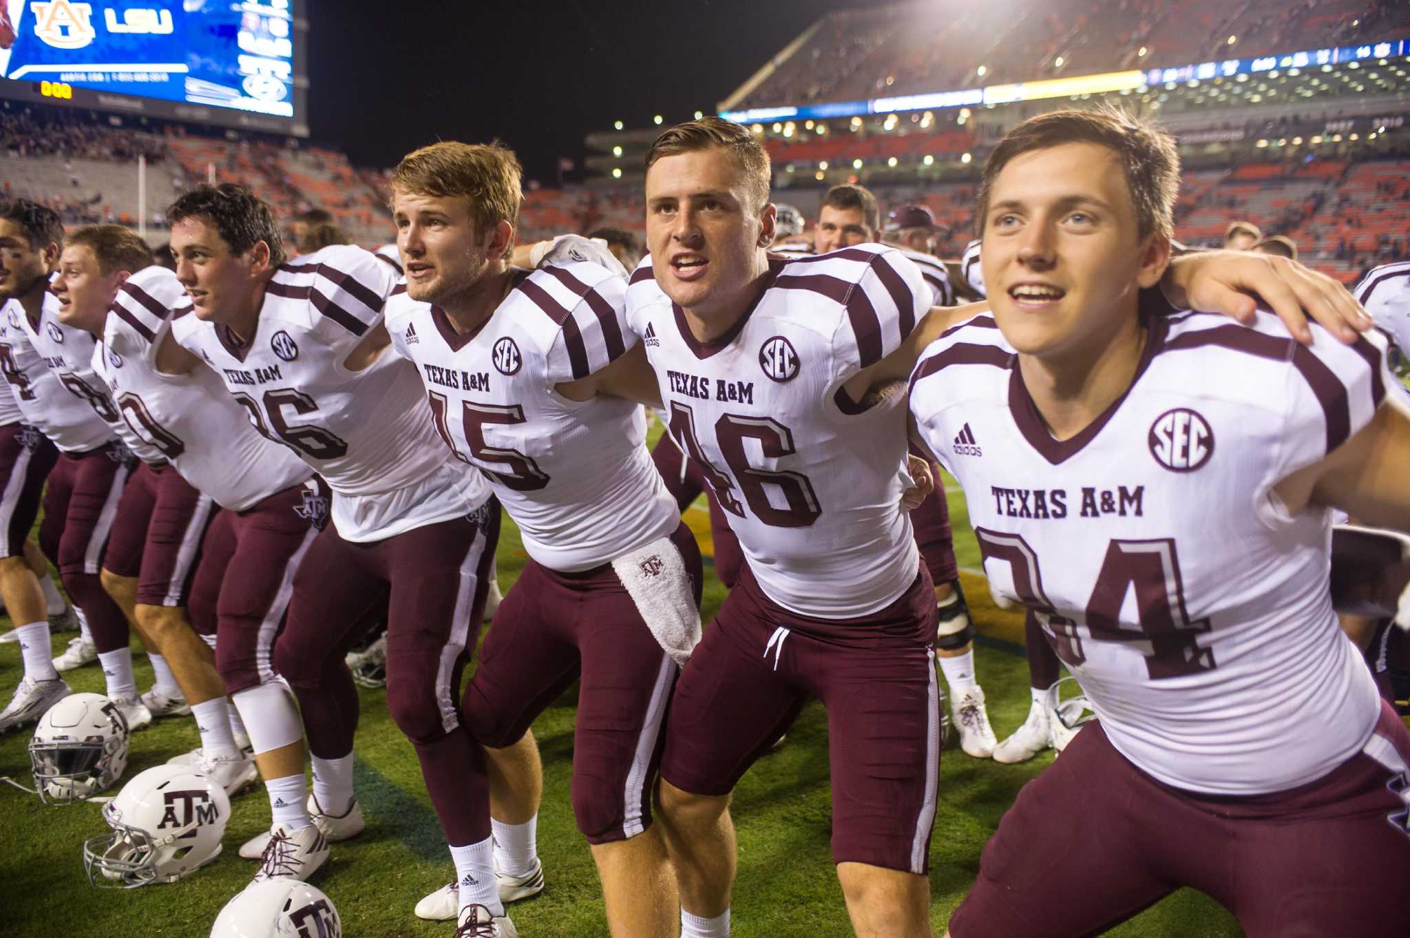
<instances>
[{"instance_id":1,"label":"white jersey of the dark-haired player at the far left edge","mask_svg":"<svg viewBox=\"0 0 1410 938\"><path fill-rule=\"evenodd\" d=\"M51 322L62 329L58 316L59 298L45 293L39 329ZM24 422L54 440L65 453L86 453L111 443L113 429L92 403L96 401L111 406L107 395L96 388L87 388L89 394L70 391L70 386L76 386L73 379L65 384L61 372L49 368L30 340L34 330L18 300L4 305L4 322L0 326L0 371L14 391ZM92 354L92 346L89 351Z\"/></svg>"}]
</instances>

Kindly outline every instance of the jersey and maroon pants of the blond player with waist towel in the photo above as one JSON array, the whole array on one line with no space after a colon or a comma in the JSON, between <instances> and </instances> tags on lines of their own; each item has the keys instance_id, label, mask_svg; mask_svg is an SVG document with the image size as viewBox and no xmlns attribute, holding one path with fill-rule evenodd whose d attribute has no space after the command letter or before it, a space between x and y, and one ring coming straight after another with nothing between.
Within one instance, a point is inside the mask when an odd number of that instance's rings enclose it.
<instances>
[{"instance_id":1,"label":"jersey and maroon pants of the blond player with waist towel","mask_svg":"<svg viewBox=\"0 0 1410 938\"><path fill-rule=\"evenodd\" d=\"M636 344L626 282L588 262L513 275L474 331L457 333L440 307L405 292L388 302L386 327L416 364L450 451L489 480L530 557L465 691L471 731L488 746L516 742L581 670L574 811L589 842L603 843L650 824L677 674L611 564L661 542L681 556L689 580L677 585L698 604L699 552L651 463L642 408L554 389Z\"/></svg>"}]
</instances>

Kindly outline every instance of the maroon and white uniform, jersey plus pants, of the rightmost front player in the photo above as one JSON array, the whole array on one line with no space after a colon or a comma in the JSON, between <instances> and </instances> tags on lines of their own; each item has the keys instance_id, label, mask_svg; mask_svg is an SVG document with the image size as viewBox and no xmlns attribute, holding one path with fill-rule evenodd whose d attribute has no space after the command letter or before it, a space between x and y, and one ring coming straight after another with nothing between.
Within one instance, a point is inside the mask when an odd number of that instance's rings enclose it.
<instances>
[{"instance_id":1,"label":"maroon and white uniform, jersey plus pants, of the rightmost front player","mask_svg":"<svg viewBox=\"0 0 1410 938\"><path fill-rule=\"evenodd\" d=\"M1086 911L1063 913L1074 922L1070 931L1043 927L1055 935L1090 934L1180 883L1221 897L1241 918L1248 911L1249 934L1332 934L1338 928L1287 925L1332 915L1359 921L1349 914L1351 896L1385 903L1383 894L1372 900L1356 891L1354 869L1383 865L1403 882L1410 872L1410 735L1382 719L1375 681L1332 612L1330 511L1289 515L1273 492L1363 427L1389 381L1385 343L1375 334L1347 347L1318 333L1303 347L1272 315L1245 329L1221 316L1180 313L1152 320L1127 394L1059 441L993 317L950 329L925 351L911 379L911 413L964 487L990 588L1035 614L1100 719L1100 728L1080 733L1083 746L1069 748L1005 815L979 884L952 922L956 935L1026 932L1053 901L1049 890L1028 886L1056 866L1080 882L1120 882L1129 891L1063 891L1060 904ZM1138 772L1117 783L1112 773L1087 772L1086 760ZM1328 805L1308 791L1340 784L1347 773L1361 787L1332 800L1345 800L1345 812L1332 804L1317 835L1279 841L1258 831L1279 822L1282 797L1289 811L1318 817L1308 805ZM1089 776L1111 780L1076 796L1073 780ZM1203 859L1182 855L1183 839L1162 842L1169 831L1159 825L1129 822L1127 807L1136 805L1139 818L1148 803L1136 787L1122 787L1131 779L1200 805L1190 814L1204 815L1191 828L1201 832ZM1069 801L1073 796L1080 804ZM1117 841L1073 853L1066 818L1079 811L1079 827L1108 838L1115 831ZM1396 812L1399 832L1386 824L1396 824ZM1220 829L1220 817L1251 821L1244 846L1228 846L1244 841L1239 821ZM1348 860L1356 843L1366 855ZM1220 877L1217 886L1170 872L1203 863L1251 869L1269 859L1245 856L1256 853L1255 845L1292 852L1275 865L1300 872ZM1058 851L1081 859L1058 862ZM1162 866L1176 855L1182 865ZM1337 858L1334 869L1325 869L1327 856ZM1117 873L1115 866L1128 869ZM1059 879L1069 880L1066 873ZM1266 890L1282 900L1293 880L1321 897L1308 906L1325 907L1299 906L1297 915L1311 918L1294 915L1263 930L1272 924L1265 913L1276 914L1277 906ZM1366 880L1376 875L1368 872ZM1402 931L1407 907L1400 901Z\"/></svg>"}]
</instances>

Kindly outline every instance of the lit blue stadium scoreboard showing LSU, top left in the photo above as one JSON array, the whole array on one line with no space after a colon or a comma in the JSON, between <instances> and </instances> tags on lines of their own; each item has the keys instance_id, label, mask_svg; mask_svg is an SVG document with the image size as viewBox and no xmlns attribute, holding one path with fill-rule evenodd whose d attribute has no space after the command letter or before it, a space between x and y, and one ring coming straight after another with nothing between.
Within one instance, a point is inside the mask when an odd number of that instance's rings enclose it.
<instances>
[{"instance_id":1,"label":"lit blue stadium scoreboard showing LSU, top left","mask_svg":"<svg viewBox=\"0 0 1410 938\"><path fill-rule=\"evenodd\" d=\"M307 137L303 0L0 0L0 97Z\"/></svg>"}]
</instances>

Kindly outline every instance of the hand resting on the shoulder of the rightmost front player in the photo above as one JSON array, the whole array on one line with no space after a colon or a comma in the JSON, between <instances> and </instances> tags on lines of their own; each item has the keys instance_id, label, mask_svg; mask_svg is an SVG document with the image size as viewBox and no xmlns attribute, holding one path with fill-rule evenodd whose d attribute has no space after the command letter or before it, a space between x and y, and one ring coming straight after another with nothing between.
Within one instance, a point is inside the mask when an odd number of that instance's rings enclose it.
<instances>
[{"instance_id":1,"label":"hand resting on the shoulder of the rightmost front player","mask_svg":"<svg viewBox=\"0 0 1410 938\"><path fill-rule=\"evenodd\" d=\"M1224 313L1244 324L1253 322L1261 300L1304 346L1313 340L1307 319L1347 344L1371 329L1371 316L1345 286L1286 257L1251 251L1187 254L1170 261L1160 286L1180 309Z\"/></svg>"}]
</instances>

